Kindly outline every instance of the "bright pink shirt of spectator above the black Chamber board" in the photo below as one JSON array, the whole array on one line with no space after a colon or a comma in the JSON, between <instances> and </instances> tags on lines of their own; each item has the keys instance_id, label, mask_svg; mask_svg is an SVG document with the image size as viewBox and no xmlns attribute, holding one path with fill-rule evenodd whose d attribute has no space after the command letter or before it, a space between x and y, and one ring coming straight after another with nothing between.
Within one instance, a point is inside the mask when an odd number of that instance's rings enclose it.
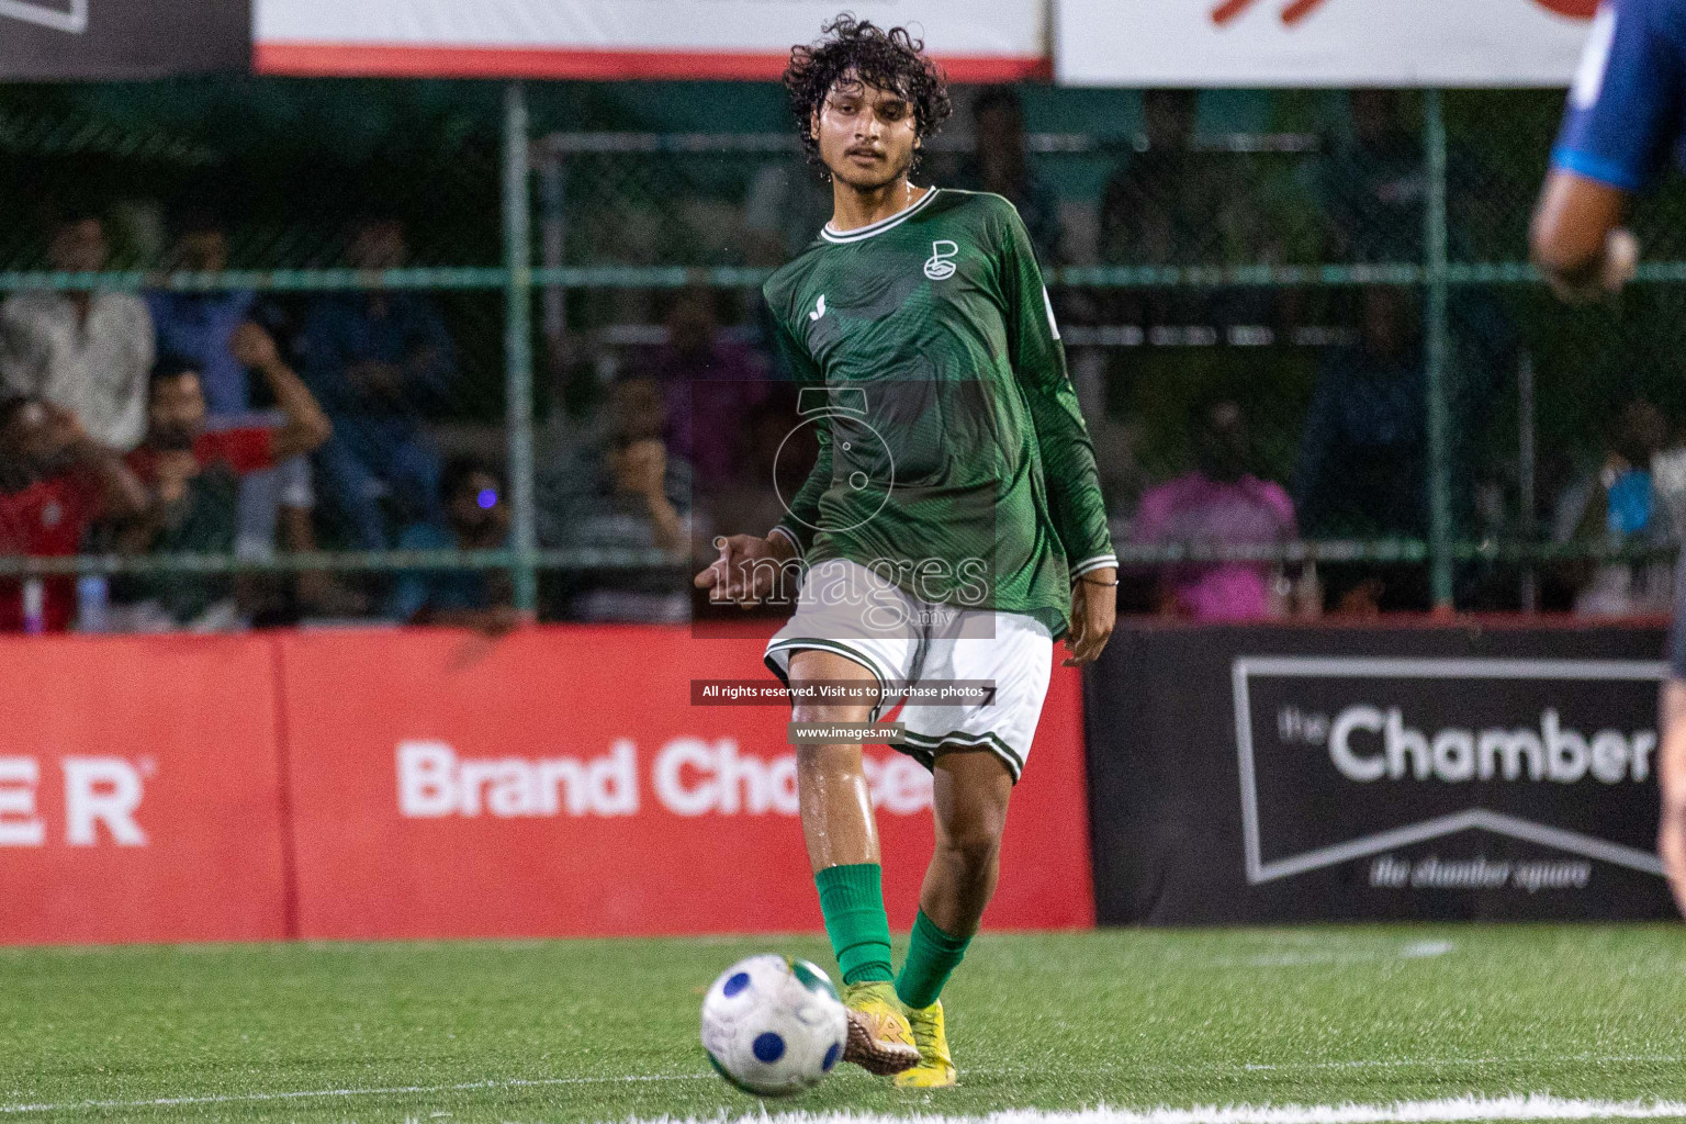
<instances>
[{"instance_id":1,"label":"bright pink shirt of spectator above the black Chamber board","mask_svg":"<svg viewBox=\"0 0 1686 1124\"><path fill-rule=\"evenodd\" d=\"M1293 500L1280 484L1241 477L1209 480L1200 472L1148 489L1131 541L1244 546L1297 538ZM1165 573L1177 607L1195 620L1258 620L1270 610L1264 563L1189 563Z\"/></svg>"}]
</instances>

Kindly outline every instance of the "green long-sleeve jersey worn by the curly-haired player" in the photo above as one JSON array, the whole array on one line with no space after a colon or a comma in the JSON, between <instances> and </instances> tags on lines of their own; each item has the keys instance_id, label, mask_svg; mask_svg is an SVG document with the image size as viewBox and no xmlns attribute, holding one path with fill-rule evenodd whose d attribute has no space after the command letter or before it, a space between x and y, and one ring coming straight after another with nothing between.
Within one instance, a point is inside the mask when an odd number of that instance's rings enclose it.
<instances>
[{"instance_id":1,"label":"green long-sleeve jersey worn by the curly-haired player","mask_svg":"<svg viewBox=\"0 0 1686 1124\"><path fill-rule=\"evenodd\" d=\"M762 288L819 458L774 527L909 593L1035 617L1116 565L1094 447L1018 211L932 189Z\"/></svg>"}]
</instances>

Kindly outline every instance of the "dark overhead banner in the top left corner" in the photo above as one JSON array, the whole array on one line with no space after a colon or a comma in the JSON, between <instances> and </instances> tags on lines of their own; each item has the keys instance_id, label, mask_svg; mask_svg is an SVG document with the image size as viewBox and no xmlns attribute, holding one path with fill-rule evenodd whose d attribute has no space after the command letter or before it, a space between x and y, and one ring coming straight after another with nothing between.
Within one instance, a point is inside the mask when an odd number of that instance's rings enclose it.
<instances>
[{"instance_id":1,"label":"dark overhead banner in the top left corner","mask_svg":"<svg viewBox=\"0 0 1686 1124\"><path fill-rule=\"evenodd\" d=\"M0 81L246 69L250 0L0 0Z\"/></svg>"}]
</instances>

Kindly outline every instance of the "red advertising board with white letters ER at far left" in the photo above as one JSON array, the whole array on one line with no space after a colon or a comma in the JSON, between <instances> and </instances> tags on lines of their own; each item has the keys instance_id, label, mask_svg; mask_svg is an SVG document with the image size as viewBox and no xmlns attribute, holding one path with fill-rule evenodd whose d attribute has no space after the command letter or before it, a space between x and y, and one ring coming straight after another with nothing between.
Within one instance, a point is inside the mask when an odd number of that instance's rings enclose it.
<instances>
[{"instance_id":1,"label":"red advertising board with white letters ER at far left","mask_svg":"<svg viewBox=\"0 0 1686 1124\"><path fill-rule=\"evenodd\" d=\"M0 942L287 935L271 657L0 639Z\"/></svg>"}]
</instances>

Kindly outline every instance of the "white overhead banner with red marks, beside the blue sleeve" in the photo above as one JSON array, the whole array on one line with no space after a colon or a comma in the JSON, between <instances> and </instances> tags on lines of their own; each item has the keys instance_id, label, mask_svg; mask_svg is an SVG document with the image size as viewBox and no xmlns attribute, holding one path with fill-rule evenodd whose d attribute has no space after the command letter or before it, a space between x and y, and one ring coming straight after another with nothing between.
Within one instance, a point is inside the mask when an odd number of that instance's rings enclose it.
<instances>
[{"instance_id":1,"label":"white overhead banner with red marks, beside the blue sleeve","mask_svg":"<svg viewBox=\"0 0 1686 1124\"><path fill-rule=\"evenodd\" d=\"M1595 0L1059 0L1074 86L1568 86Z\"/></svg>"}]
</instances>

